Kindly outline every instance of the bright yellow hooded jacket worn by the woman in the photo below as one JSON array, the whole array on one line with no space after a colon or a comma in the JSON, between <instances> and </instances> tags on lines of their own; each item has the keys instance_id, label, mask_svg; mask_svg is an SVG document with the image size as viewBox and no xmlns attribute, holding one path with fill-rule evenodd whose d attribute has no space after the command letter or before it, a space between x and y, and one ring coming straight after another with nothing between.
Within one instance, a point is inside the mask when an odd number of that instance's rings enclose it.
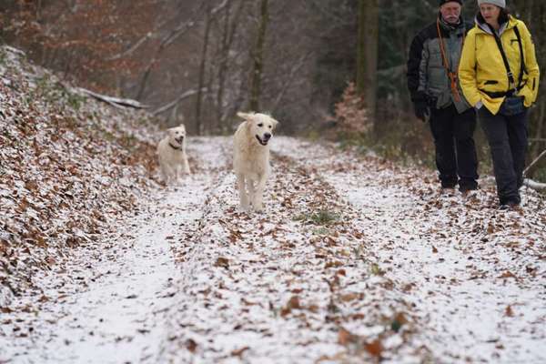
<instances>
[{"instance_id":1,"label":"bright yellow hooded jacket worn by the woman","mask_svg":"<svg viewBox=\"0 0 546 364\"><path fill-rule=\"evenodd\" d=\"M539 90L539 65L527 26L521 20L510 16L504 29L501 28L501 42L516 84L520 79L521 56L514 26L520 31L527 69L527 74L524 73L521 78L524 86L517 95L523 96L524 105L529 107L535 102ZM506 92L509 90L509 80L501 51L489 28L476 24L470 29L460 56L459 79L462 92L471 106L476 106L481 101L491 114L496 115L499 112L504 97L490 97L483 91ZM513 85L510 88L513 88Z\"/></svg>"}]
</instances>

